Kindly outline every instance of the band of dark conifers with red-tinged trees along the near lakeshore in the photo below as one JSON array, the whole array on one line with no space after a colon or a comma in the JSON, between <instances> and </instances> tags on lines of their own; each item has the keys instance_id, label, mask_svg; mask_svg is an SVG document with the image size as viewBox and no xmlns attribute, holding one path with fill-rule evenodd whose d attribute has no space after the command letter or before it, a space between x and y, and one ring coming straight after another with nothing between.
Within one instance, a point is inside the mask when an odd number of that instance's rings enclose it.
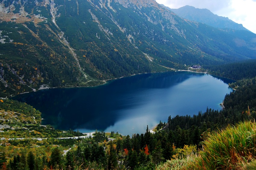
<instances>
[{"instance_id":1,"label":"band of dark conifers with red-tinged trees along the near lakeshore","mask_svg":"<svg viewBox=\"0 0 256 170\"><path fill-rule=\"evenodd\" d=\"M64 154L60 146L50 148L43 156L21 150L13 159L1 151L2 169L154 169L166 160L175 159L177 148L189 146L201 149L202 142L212 131L256 118L256 77L230 85L235 90L226 94L224 109L198 112L193 116L175 116L161 122L156 132L146 128L144 134L122 136L111 132L116 140L108 141L104 132L93 138L81 139ZM32 163L31 163L32 162Z\"/></svg>"}]
</instances>

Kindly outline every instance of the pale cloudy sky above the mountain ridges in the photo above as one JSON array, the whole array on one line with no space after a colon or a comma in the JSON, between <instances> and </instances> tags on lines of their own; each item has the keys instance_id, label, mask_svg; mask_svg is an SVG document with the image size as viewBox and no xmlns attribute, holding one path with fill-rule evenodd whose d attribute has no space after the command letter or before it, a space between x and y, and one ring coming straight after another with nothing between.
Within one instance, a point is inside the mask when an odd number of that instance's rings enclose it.
<instances>
[{"instance_id":1,"label":"pale cloudy sky above the mountain ridges","mask_svg":"<svg viewBox=\"0 0 256 170\"><path fill-rule=\"evenodd\" d=\"M214 14L243 24L246 29L256 33L256 0L156 0L156 2L173 9L185 5L206 8Z\"/></svg>"}]
</instances>

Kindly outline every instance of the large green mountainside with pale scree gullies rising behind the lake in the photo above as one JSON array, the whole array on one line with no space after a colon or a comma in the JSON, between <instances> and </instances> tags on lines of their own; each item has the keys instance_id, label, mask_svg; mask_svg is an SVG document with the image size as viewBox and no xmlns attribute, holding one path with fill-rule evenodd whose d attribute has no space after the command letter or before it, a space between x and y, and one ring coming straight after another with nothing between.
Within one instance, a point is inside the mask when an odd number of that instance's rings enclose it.
<instances>
[{"instance_id":1,"label":"large green mountainside with pale scree gullies rising behind the lake","mask_svg":"<svg viewBox=\"0 0 256 170\"><path fill-rule=\"evenodd\" d=\"M256 58L256 35L154 0L0 0L0 96Z\"/></svg>"}]
</instances>

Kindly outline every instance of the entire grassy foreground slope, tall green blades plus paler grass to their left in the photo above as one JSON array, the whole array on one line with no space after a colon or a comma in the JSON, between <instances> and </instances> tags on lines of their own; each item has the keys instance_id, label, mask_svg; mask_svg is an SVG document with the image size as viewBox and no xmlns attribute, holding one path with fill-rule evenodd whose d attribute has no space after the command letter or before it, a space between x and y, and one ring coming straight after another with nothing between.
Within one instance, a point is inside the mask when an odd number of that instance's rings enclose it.
<instances>
[{"instance_id":1,"label":"entire grassy foreground slope, tall green blades plus paler grass to their left","mask_svg":"<svg viewBox=\"0 0 256 170\"><path fill-rule=\"evenodd\" d=\"M186 155L159 165L157 169L255 169L256 123L240 122L213 132L198 155Z\"/></svg>"}]
</instances>

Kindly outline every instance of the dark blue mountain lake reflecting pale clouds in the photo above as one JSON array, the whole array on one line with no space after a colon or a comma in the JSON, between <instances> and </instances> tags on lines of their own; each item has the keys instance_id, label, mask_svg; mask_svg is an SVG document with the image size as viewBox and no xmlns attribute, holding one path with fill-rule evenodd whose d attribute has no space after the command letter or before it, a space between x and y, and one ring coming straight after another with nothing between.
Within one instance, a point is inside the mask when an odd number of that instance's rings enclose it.
<instances>
[{"instance_id":1,"label":"dark blue mountain lake reflecting pale clouds","mask_svg":"<svg viewBox=\"0 0 256 170\"><path fill-rule=\"evenodd\" d=\"M55 88L14 97L42 112L42 124L80 132L145 133L168 116L220 110L229 80L190 72L150 73L83 88Z\"/></svg>"}]
</instances>

